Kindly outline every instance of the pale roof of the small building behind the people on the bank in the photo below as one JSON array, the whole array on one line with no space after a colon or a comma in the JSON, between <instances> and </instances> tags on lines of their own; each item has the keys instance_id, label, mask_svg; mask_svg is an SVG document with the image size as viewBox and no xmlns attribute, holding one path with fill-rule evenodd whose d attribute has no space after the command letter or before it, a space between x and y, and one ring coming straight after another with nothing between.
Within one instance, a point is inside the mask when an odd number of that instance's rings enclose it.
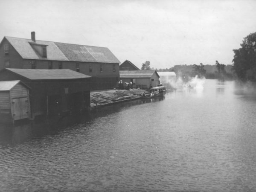
<instances>
[{"instance_id":1,"label":"pale roof of the small building behind the people on the bank","mask_svg":"<svg viewBox=\"0 0 256 192\"><path fill-rule=\"evenodd\" d=\"M155 70L134 70L134 71L119 71L120 78L150 78ZM159 75L157 74L159 77Z\"/></svg>"}]
</instances>

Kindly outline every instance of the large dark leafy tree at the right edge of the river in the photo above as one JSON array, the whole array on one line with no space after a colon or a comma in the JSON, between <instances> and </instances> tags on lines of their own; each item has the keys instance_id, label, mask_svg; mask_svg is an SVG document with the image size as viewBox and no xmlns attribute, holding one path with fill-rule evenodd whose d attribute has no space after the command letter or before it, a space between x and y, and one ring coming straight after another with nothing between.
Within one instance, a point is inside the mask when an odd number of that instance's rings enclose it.
<instances>
[{"instance_id":1,"label":"large dark leafy tree at the right edge of the river","mask_svg":"<svg viewBox=\"0 0 256 192\"><path fill-rule=\"evenodd\" d=\"M233 49L233 71L241 81L256 81L256 32L244 38L241 48Z\"/></svg>"}]
</instances>

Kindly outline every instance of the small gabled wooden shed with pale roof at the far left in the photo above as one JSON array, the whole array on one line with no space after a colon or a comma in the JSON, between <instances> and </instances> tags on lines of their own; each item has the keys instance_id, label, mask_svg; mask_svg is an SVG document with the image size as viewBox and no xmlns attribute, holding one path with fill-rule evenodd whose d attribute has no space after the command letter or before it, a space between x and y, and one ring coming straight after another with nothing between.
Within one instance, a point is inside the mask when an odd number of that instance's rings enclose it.
<instances>
[{"instance_id":1,"label":"small gabled wooden shed with pale roof at the far left","mask_svg":"<svg viewBox=\"0 0 256 192\"><path fill-rule=\"evenodd\" d=\"M22 81L0 81L0 122L10 123L30 116L29 89Z\"/></svg>"}]
</instances>

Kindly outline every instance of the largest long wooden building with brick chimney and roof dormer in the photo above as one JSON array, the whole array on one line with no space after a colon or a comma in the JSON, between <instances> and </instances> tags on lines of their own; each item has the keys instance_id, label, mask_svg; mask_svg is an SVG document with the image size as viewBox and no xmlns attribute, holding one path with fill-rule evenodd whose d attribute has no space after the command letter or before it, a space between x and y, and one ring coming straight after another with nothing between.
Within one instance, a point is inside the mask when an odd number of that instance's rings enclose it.
<instances>
[{"instance_id":1,"label":"largest long wooden building with brick chimney and roof dormer","mask_svg":"<svg viewBox=\"0 0 256 192\"><path fill-rule=\"evenodd\" d=\"M4 37L0 69L70 69L91 76L91 89L116 87L120 61L106 47Z\"/></svg>"}]
</instances>

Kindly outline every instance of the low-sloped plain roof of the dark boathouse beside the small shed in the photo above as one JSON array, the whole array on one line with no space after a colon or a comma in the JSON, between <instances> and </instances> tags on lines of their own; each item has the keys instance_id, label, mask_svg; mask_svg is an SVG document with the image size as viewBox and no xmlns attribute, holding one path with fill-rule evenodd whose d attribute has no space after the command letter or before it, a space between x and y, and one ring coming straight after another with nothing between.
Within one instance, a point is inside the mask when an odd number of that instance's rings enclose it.
<instances>
[{"instance_id":1,"label":"low-sloped plain roof of the dark boathouse beside the small shed","mask_svg":"<svg viewBox=\"0 0 256 192\"><path fill-rule=\"evenodd\" d=\"M3 70L11 71L30 80L56 80L56 79L84 79L91 76L84 75L69 69L60 70L44 70L44 69L11 69Z\"/></svg>"}]
</instances>

